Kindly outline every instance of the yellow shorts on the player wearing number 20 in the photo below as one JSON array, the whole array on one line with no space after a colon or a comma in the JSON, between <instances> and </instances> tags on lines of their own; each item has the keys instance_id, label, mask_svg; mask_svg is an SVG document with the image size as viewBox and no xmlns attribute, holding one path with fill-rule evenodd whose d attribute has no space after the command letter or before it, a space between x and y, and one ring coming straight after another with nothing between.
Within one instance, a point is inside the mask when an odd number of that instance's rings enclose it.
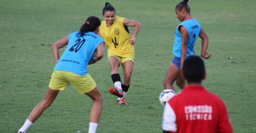
<instances>
[{"instance_id":1,"label":"yellow shorts on the player wearing number 20","mask_svg":"<svg viewBox=\"0 0 256 133\"><path fill-rule=\"evenodd\" d=\"M93 78L87 74L84 76L67 71L54 71L49 83L52 90L64 90L71 84L78 93L88 93L96 87Z\"/></svg>"}]
</instances>

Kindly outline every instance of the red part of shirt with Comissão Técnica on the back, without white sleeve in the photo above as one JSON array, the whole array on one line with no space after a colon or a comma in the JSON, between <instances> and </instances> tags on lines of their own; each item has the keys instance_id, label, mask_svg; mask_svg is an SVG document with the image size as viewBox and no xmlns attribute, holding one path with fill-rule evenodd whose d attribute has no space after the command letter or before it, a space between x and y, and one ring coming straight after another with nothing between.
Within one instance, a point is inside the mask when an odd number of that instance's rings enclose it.
<instances>
[{"instance_id":1,"label":"red part of shirt with Comiss\u00e3o T\u00e9cnica on the back, without white sleeve","mask_svg":"<svg viewBox=\"0 0 256 133\"><path fill-rule=\"evenodd\" d=\"M177 133L233 133L225 104L202 86L184 87L168 103L176 116Z\"/></svg>"}]
</instances>

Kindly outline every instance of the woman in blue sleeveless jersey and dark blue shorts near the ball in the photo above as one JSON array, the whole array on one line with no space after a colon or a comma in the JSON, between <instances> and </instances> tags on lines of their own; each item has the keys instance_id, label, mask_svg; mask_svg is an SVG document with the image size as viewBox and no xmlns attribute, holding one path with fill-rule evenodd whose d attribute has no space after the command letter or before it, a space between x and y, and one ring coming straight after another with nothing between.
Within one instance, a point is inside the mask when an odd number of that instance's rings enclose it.
<instances>
[{"instance_id":1,"label":"woman in blue sleeveless jersey and dark blue shorts near the ball","mask_svg":"<svg viewBox=\"0 0 256 133\"><path fill-rule=\"evenodd\" d=\"M186 57L194 55L194 45L198 36L202 39L201 57L208 59L211 55L207 52L208 37L195 18L190 14L189 0L183 0L175 7L175 13L180 24L175 29L175 41L173 46L174 59L172 60L164 80L165 89L174 90L173 83L181 89L184 87L184 80L180 77L180 71Z\"/></svg>"}]
</instances>

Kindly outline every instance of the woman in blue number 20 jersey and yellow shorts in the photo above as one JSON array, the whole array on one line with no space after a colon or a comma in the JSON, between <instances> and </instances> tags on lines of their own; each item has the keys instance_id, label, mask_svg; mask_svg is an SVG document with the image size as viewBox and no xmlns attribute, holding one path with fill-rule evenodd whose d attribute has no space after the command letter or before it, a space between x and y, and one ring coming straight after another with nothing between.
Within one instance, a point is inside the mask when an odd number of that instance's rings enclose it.
<instances>
[{"instance_id":1,"label":"woman in blue number 20 jersey and yellow shorts","mask_svg":"<svg viewBox=\"0 0 256 133\"><path fill-rule=\"evenodd\" d=\"M44 99L32 110L23 126L17 133L26 130L41 116L58 95L71 84L78 93L84 93L93 100L90 113L89 133L95 133L102 111L102 96L95 81L87 73L87 64L94 64L104 54L104 40L97 35L101 21L98 17L88 17L80 31L61 38L52 45L52 53L56 62L49 89ZM67 45L59 58L58 49ZM97 50L94 58L93 52Z\"/></svg>"}]
</instances>

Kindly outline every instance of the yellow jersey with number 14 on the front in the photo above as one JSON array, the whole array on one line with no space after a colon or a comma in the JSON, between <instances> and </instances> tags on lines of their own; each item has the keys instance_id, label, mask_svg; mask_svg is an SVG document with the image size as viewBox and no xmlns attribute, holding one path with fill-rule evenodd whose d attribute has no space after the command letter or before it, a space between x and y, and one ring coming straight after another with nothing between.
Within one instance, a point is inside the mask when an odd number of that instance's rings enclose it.
<instances>
[{"instance_id":1,"label":"yellow jersey with number 14 on the front","mask_svg":"<svg viewBox=\"0 0 256 133\"><path fill-rule=\"evenodd\" d=\"M117 55L124 58L135 58L134 46L130 43L130 34L123 25L124 17L115 17L113 24L108 27L102 21L99 32L108 47L108 55Z\"/></svg>"}]
</instances>

